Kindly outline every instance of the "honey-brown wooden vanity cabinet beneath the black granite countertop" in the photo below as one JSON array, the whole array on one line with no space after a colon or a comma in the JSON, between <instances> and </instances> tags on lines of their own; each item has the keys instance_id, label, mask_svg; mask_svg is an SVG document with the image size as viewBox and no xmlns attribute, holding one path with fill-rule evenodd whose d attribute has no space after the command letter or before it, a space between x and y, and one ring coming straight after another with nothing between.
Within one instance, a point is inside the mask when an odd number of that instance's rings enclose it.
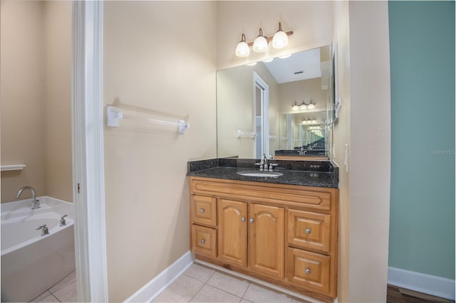
<instances>
[{"instance_id":1,"label":"honey-brown wooden vanity cabinet beneath the black granite countertop","mask_svg":"<svg viewBox=\"0 0 456 303\"><path fill-rule=\"evenodd\" d=\"M217 225L213 228L217 233L217 252L209 256L202 255L197 250L195 256L199 260L211 262L214 265L226 267L245 275L256 277L266 282L285 287L310 297L328 300L337 297L338 270L338 188L320 188L312 186L296 186L287 184L269 184L261 182L234 181L225 179L210 179L189 177L190 201L192 196L204 196L217 199ZM234 203L230 205L229 203ZM222 218L224 206L236 206L231 211L235 215L225 215ZM252 253L257 250L252 245L254 227L249 220L252 213L264 210L281 209L274 215L277 220L283 220L283 233L277 236L280 243L279 258L283 259L283 267L277 270L261 271L256 268L257 261L252 260ZM235 208L239 208L235 210ZM248 210L246 213L246 209ZM268 216L272 216L269 214ZM281 219L279 217L281 216ZM299 223L292 223L291 218L301 216ZM240 237L247 239L247 247L224 249L224 234L221 233L224 220L240 220L234 228L247 226L239 232ZM274 220L276 220L274 219ZM289 222L290 221L290 222ZM239 224L238 224L239 223ZM198 225L190 216L190 224ZM302 230L293 228L309 228L317 232L306 239ZM226 226L225 226L226 228ZM297 235L297 236L296 236ZM234 235L228 235L232 237ZM231 240L232 241L232 240ZM192 243L192 235L190 235ZM239 245L244 242L239 242ZM252 248L253 246L253 248ZM237 248L237 249L238 249ZM263 249L263 248L261 248ZM224 253L226 251L226 253ZM244 255L247 253L247 256ZM260 262L261 263L261 262ZM254 265L254 266L252 266ZM269 266L269 265L268 265ZM261 266L260 266L261 267ZM266 266L267 267L267 266ZM270 266L269 266L270 267ZM302 270L309 274L303 273ZM321 270L316 275L315 270ZM307 279L306 279L307 277ZM321 279L321 280L318 280Z\"/></svg>"}]
</instances>

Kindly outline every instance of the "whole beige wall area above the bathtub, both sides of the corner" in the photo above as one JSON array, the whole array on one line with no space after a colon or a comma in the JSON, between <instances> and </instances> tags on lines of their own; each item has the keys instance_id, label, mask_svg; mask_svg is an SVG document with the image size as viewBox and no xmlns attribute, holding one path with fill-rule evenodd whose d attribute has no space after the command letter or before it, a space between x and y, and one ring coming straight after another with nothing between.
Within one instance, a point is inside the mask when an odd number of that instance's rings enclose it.
<instances>
[{"instance_id":1,"label":"whole beige wall area above the bathtub, both sides of the corner","mask_svg":"<svg viewBox=\"0 0 456 303\"><path fill-rule=\"evenodd\" d=\"M1 1L1 202L72 201L71 2ZM21 198L30 198L27 191Z\"/></svg>"}]
</instances>

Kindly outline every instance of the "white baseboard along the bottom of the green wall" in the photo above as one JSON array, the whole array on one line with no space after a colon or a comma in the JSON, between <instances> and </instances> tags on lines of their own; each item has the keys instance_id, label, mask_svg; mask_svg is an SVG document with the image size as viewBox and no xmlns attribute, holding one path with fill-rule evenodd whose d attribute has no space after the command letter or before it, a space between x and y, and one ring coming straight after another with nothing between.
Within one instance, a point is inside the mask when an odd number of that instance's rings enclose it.
<instances>
[{"instance_id":1,"label":"white baseboard along the bottom of the green wall","mask_svg":"<svg viewBox=\"0 0 456 303\"><path fill-rule=\"evenodd\" d=\"M426 275L420 272L388 267L388 284L445 299L455 299L455 280Z\"/></svg>"}]
</instances>

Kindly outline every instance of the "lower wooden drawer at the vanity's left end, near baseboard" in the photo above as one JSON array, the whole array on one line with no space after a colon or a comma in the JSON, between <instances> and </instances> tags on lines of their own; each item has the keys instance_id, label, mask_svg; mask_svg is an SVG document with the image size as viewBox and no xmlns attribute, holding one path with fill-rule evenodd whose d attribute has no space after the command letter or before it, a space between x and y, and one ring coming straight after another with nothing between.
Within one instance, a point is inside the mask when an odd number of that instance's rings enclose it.
<instances>
[{"instance_id":1,"label":"lower wooden drawer at the vanity's left end, near baseboard","mask_svg":"<svg viewBox=\"0 0 456 303\"><path fill-rule=\"evenodd\" d=\"M217 257L217 230L192 224L192 251Z\"/></svg>"}]
</instances>

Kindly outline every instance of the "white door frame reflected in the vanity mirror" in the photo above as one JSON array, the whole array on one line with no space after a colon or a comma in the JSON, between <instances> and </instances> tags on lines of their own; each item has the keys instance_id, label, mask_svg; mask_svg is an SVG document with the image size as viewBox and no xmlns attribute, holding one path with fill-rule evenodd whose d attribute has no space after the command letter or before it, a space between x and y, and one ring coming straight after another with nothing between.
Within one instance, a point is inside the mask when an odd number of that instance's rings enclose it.
<instances>
[{"instance_id":1,"label":"white door frame reflected in the vanity mirror","mask_svg":"<svg viewBox=\"0 0 456 303\"><path fill-rule=\"evenodd\" d=\"M269 157L269 85L254 72L254 109L256 102L256 88L262 90L261 98L261 154L266 154ZM255 111L255 110L254 110ZM256 116L256 113L255 115ZM256 118L254 117L254 128L256 127ZM256 154L257 151L255 151Z\"/></svg>"}]
</instances>

